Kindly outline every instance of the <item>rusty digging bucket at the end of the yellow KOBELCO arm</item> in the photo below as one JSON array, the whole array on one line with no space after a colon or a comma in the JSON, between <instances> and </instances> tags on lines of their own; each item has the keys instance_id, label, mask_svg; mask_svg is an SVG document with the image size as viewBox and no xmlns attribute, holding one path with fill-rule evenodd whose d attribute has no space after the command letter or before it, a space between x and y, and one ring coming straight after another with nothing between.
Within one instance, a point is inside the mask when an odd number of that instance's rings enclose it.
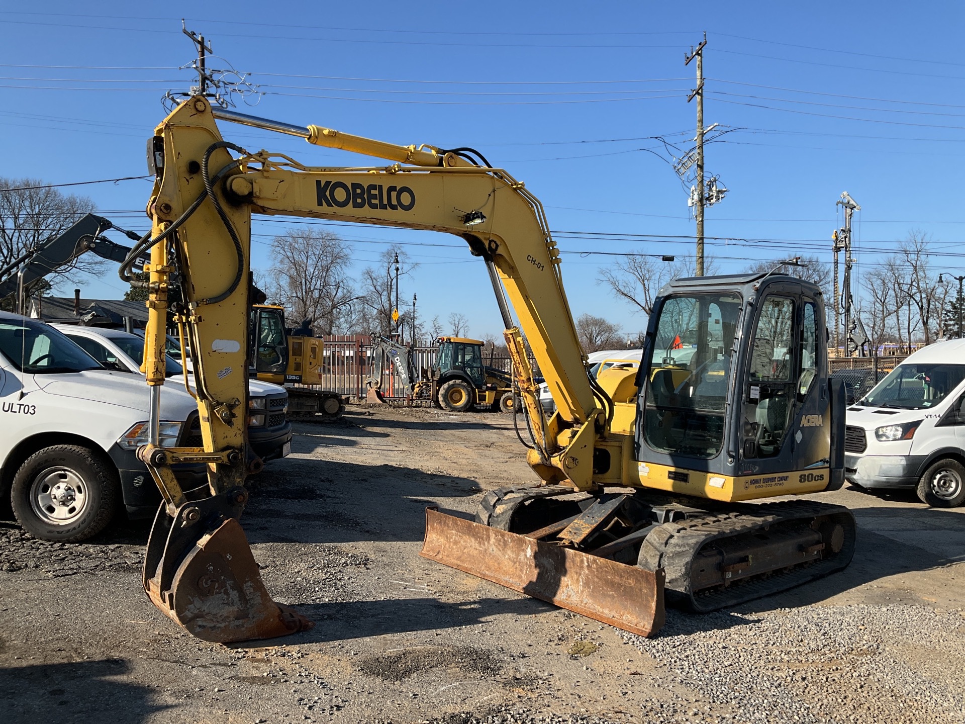
<instances>
[{"instance_id":1,"label":"rusty digging bucket at the end of the yellow KOBELCO arm","mask_svg":"<svg viewBox=\"0 0 965 724\"><path fill-rule=\"evenodd\" d=\"M185 503L162 504L144 564L144 589L164 614L205 641L275 638L314 624L271 599L237 517L247 493L236 487Z\"/></svg>"}]
</instances>

